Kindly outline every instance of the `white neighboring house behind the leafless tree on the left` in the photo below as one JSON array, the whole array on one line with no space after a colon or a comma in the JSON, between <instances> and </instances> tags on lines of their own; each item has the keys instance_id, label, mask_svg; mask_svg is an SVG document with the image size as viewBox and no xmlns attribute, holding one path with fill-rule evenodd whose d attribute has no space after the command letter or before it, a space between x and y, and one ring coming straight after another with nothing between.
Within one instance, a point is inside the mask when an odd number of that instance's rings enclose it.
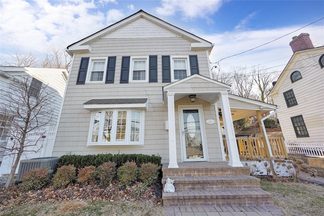
<instances>
[{"instance_id":1,"label":"white neighboring house behind the leafless tree on the left","mask_svg":"<svg viewBox=\"0 0 324 216\"><path fill-rule=\"evenodd\" d=\"M62 98L65 91L66 80L68 72L66 69L57 68L35 68L35 67L11 67L0 66L0 101L3 103L6 98L5 92L13 83L22 80L24 77L32 77L31 84L37 85L40 83L47 84L47 88L52 88L56 97L54 107L53 118L49 124L40 128L38 131L33 132L35 136L46 133L46 138L43 140L43 148L38 153L23 154L20 160L37 158L37 157L49 157L52 155L52 149L54 145L56 124L58 116L61 110ZM6 116L3 110L0 110L0 145L10 145L12 142L7 137L8 130L11 125L13 117ZM40 144L41 145L41 144ZM0 152L0 176L3 174L9 174L13 164L13 158L10 156L3 157L3 152ZM16 169L18 172L19 166Z\"/></svg>"}]
</instances>

